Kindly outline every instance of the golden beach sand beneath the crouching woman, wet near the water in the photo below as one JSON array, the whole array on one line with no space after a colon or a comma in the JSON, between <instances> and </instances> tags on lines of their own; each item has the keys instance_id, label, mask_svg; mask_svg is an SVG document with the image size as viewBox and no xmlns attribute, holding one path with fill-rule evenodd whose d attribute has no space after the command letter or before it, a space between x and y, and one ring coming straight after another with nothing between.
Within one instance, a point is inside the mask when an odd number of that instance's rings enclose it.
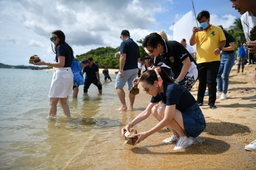
<instances>
[{"instance_id":1,"label":"golden beach sand beneath the crouching woman, wet near the water","mask_svg":"<svg viewBox=\"0 0 256 170\"><path fill-rule=\"evenodd\" d=\"M246 151L245 145L256 139L256 84L253 81L256 65L245 66L236 73L233 66L227 100L216 100L217 109L209 109L208 96L201 107L207 128L197 138L196 145L174 151L175 142L162 143L172 134L165 128L152 134L136 147L123 146L121 128L141 113L151 97L140 87L134 111L115 111L123 126L102 129L67 163L64 169L256 169L256 152ZM110 70L110 69L109 69ZM198 82L191 93L196 98ZM250 92L239 92L250 88ZM127 94L127 91L126 91ZM127 95L126 95L127 96ZM117 103L119 103L117 97ZM126 97L126 101L128 101ZM134 126L138 132L157 124L153 116Z\"/></svg>"}]
</instances>

